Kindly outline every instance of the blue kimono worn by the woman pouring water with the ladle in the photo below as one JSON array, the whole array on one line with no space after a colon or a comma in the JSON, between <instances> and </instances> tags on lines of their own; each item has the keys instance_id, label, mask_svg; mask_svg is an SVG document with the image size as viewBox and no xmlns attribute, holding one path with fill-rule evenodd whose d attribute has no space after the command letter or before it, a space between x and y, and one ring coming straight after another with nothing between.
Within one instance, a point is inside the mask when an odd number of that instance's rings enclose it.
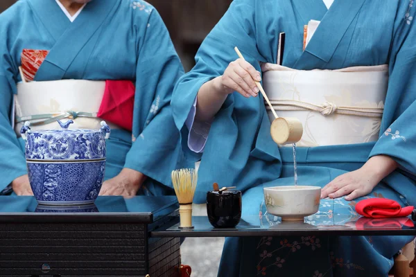
<instances>
[{"instance_id":1,"label":"blue kimono worn by the woman pouring water with the ladle","mask_svg":"<svg viewBox=\"0 0 416 277\"><path fill-rule=\"evenodd\" d=\"M389 85L379 140L358 145L299 148L298 184L325 186L385 154L399 169L370 195L347 202L324 199L317 215L327 224L356 219L355 204L368 197L416 205L416 7L413 0L335 0L327 10L322 0L235 0L209 33L196 66L180 78L173 93L173 116L184 125L205 82L222 75L238 56L261 71L259 62L275 64L279 33L286 33L283 66L293 69L341 69L389 64ZM303 51L304 25L320 22ZM196 153L193 153L196 154ZM217 182L243 191L246 215L266 214L263 188L293 185L291 148L278 148L259 94L239 93L225 100L209 129L198 171L196 202ZM310 219L309 219L310 220ZM329 222L329 223L328 223ZM228 238L218 276L387 276L392 257L412 237Z\"/></svg>"}]
</instances>

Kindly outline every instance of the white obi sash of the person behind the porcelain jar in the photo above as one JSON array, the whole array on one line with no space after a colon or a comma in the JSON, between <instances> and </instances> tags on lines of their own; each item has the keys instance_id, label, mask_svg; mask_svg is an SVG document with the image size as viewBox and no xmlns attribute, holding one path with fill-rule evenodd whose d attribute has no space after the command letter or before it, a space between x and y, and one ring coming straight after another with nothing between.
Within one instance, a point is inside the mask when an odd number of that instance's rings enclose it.
<instances>
[{"instance_id":1,"label":"white obi sash of the person behind the porcelain jar","mask_svg":"<svg viewBox=\"0 0 416 277\"><path fill-rule=\"evenodd\" d=\"M73 120L70 129L100 129L97 113L103 100L105 81L57 80L17 84L15 132L25 121L31 129L60 129L57 120ZM107 123L112 129L120 129Z\"/></svg>"}]
</instances>

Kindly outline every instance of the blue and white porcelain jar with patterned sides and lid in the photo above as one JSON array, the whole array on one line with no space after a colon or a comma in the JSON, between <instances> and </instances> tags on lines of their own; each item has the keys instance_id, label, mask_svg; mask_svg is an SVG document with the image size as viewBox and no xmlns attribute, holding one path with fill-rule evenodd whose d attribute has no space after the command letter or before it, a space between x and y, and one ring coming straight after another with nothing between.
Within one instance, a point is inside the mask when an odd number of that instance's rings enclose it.
<instances>
[{"instance_id":1,"label":"blue and white porcelain jar with patterned sides and lid","mask_svg":"<svg viewBox=\"0 0 416 277\"><path fill-rule=\"evenodd\" d=\"M44 205L92 204L103 184L110 127L104 121L98 130L68 129L73 120L58 123L61 129L21 127L33 194Z\"/></svg>"}]
</instances>

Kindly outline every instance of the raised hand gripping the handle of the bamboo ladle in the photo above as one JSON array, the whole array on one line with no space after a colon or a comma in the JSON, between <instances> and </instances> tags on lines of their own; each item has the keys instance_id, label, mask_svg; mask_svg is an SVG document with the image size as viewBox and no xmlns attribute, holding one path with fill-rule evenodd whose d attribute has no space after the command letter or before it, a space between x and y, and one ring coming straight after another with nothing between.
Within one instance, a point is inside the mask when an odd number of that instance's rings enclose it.
<instances>
[{"instance_id":1,"label":"raised hand gripping the handle of the bamboo ladle","mask_svg":"<svg viewBox=\"0 0 416 277\"><path fill-rule=\"evenodd\" d=\"M256 97L259 93L259 88L254 80L261 81L259 71L245 60L238 59L230 62L224 74L216 78L216 86L226 94L237 91L246 98L250 96Z\"/></svg>"}]
</instances>

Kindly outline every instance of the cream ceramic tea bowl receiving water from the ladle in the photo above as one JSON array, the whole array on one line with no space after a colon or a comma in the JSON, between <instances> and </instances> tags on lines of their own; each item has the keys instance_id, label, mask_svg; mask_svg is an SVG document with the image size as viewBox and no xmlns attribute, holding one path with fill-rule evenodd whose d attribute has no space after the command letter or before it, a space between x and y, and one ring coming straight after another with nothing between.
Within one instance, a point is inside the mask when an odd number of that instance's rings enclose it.
<instances>
[{"instance_id":1,"label":"cream ceramic tea bowl receiving water from the ladle","mask_svg":"<svg viewBox=\"0 0 416 277\"><path fill-rule=\"evenodd\" d=\"M282 221L304 220L318 212L321 188L318 186L274 186L263 188L268 213Z\"/></svg>"}]
</instances>

